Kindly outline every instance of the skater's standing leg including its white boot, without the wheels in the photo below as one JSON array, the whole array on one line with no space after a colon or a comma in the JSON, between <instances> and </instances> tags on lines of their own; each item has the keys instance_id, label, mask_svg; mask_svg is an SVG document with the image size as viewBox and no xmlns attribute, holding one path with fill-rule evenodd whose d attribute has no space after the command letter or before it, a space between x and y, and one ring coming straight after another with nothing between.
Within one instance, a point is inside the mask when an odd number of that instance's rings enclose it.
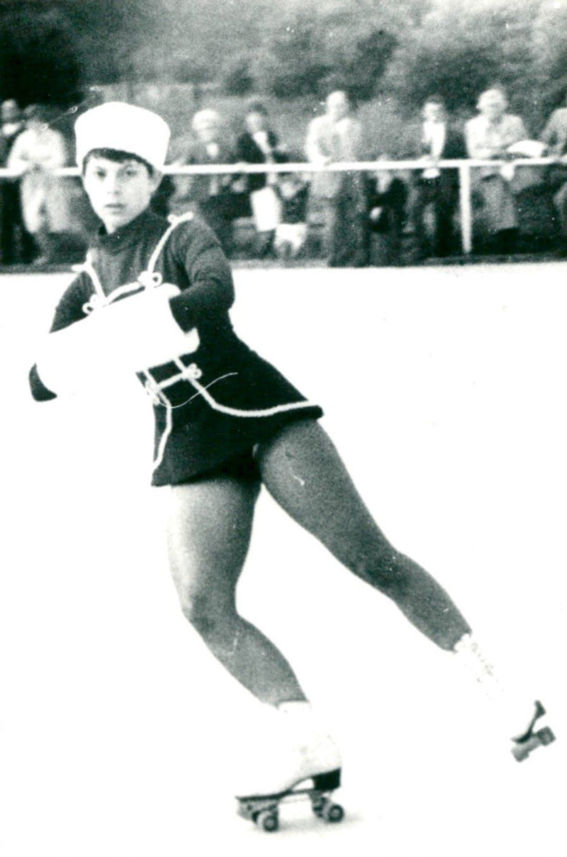
<instances>
[{"instance_id":1,"label":"skater's standing leg including its white boot, without the wheels","mask_svg":"<svg viewBox=\"0 0 567 857\"><path fill-rule=\"evenodd\" d=\"M209 650L260 705L249 724L236 794L275 794L306 777L340 777L335 742L319 722L292 668L236 611L236 584L248 553L255 483L216 476L171 489L168 544L183 614Z\"/></svg>"}]
</instances>

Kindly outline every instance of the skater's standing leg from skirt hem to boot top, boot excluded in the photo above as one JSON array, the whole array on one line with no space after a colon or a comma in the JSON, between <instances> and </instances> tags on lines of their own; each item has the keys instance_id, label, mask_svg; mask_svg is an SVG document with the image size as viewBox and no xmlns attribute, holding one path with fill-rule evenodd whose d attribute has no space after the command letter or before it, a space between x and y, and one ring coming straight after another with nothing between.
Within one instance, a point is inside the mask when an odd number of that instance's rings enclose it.
<instances>
[{"instance_id":1,"label":"skater's standing leg from skirt hem to boot top, boot excluded","mask_svg":"<svg viewBox=\"0 0 567 857\"><path fill-rule=\"evenodd\" d=\"M260 701L304 700L274 644L236 612L258 486L228 476L171 489L168 546L182 612L212 654Z\"/></svg>"}]
</instances>

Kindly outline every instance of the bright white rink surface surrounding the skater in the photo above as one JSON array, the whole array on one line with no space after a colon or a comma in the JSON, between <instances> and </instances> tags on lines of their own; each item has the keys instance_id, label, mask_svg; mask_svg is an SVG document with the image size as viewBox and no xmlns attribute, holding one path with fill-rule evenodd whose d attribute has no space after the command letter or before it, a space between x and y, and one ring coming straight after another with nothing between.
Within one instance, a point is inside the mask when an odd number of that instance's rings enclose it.
<instances>
[{"instance_id":1,"label":"bright white rink surface surrounding the skater","mask_svg":"<svg viewBox=\"0 0 567 857\"><path fill-rule=\"evenodd\" d=\"M70 275L0 279L3 857L567 854L566 274L236 271L237 331L325 406L386 534L558 735L516 764L455 659L263 494L240 606L336 734L347 813L288 806L278 834L234 812L254 704L177 607L146 396L33 403Z\"/></svg>"}]
</instances>

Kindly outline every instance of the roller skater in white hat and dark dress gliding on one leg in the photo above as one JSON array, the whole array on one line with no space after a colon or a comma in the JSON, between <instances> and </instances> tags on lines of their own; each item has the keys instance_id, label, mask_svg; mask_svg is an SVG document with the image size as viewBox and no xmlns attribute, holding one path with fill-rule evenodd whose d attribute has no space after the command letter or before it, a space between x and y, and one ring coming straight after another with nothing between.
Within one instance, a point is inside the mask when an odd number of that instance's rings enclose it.
<instances>
[{"instance_id":1,"label":"roller skater in white hat and dark dress gliding on one leg","mask_svg":"<svg viewBox=\"0 0 567 857\"><path fill-rule=\"evenodd\" d=\"M169 139L164 121L110 103L87 111L75 131L102 225L39 349L33 396L54 399L105 373L136 371L155 416L152 484L170 486L170 566L182 612L259 700L258 722L270 736L245 741L237 794L281 796L310 778L336 788L336 743L289 662L236 610L262 485L427 638L457 651L486 687L492 672L450 597L374 523L319 423L319 405L236 335L230 267L210 227L192 213L168 222L150 211ZM541 710L528 703L522 740L535 740Z\"/></svg>"}]
</instances>

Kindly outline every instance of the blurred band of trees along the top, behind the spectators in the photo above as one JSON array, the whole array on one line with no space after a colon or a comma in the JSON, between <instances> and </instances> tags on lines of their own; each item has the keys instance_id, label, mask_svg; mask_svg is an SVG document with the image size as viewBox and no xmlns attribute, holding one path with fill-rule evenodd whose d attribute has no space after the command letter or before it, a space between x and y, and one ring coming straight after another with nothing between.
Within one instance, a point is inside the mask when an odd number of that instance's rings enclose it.
<instances>
[{"instance_id":1,"label":"blurred band of trees along the top, behind the spectators","mask_svg":"<svg viewBox=\"0 0 567 857\"><path fill-rule=\"evenodd\" d=\"M498 82L537 133L567 88L567 0L0 0L3 98L137 81L316 103L344 88L405 117L429 93L469 116Z\"/></svg>"}]
</instances>

